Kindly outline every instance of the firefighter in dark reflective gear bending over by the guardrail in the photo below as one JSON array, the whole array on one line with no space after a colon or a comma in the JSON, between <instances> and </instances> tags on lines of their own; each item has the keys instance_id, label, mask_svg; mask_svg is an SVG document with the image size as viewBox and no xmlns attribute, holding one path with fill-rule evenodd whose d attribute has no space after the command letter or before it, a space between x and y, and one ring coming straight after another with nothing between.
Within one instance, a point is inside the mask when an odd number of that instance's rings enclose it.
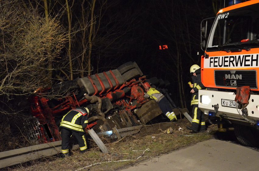
<instances>
[{"instance_id":1,"label":"firefighter in dark reflective gear bending over by the guardrail","mask_svg":"<svg viewBox=\"0 0 259 171\"><path fill-rule=\"evenodd\" d=\"M69 138L73 134L76 137L78 145L80 147L80 153L86 152L86 137L84 128L88 123L89 109L87 107L78 107L70 110L66 115L63 116L60 129L61 129L61 152L62 157L69 156Z\"/></svg>"}]
</instances>

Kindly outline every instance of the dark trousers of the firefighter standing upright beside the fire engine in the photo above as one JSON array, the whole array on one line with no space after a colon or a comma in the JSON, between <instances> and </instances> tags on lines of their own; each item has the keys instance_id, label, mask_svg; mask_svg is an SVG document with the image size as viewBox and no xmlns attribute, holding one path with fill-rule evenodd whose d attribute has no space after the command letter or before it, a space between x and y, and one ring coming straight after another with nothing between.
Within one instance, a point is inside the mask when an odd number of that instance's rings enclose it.
<instances>
[{"instance_id":1,"label":"dark trousers of the firefighter standing upright beside the fire engine","mask_svg":"<svg viewBox=\"0 0 259 171\"><path fill-rule=\"evenodd\" d=\"M195 131L204 131L206 130L204 113L198 107L198 104L193 105L193 120L192 128Z\"/></svg>"}]
</instances>

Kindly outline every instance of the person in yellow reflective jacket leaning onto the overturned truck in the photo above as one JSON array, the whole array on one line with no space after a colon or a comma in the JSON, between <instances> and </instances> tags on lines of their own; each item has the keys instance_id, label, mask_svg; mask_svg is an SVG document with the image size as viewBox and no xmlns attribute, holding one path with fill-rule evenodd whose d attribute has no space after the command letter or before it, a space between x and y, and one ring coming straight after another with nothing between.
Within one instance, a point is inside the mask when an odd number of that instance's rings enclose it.
<instances>
[{"instance_id":1,"label":"person in yellow reflective jacket leaning onto the overturned truck","mask_svg":"<svg viewBox=\"0 0 259 171\"><path fill-rule=\"evenodd\" d=\"M154 99L156 102L158 102L158 106L165 114L165 116L167 116L170 119L170 121L177 120L176 115L173 112L172 108L170 107L168 100L161 92L159 92L155 88L150 88L150 87L146 87L146 91L147 93L145 93L144 97L146 98L150 97L151 99Z\"/></svg>"}]
</instances>

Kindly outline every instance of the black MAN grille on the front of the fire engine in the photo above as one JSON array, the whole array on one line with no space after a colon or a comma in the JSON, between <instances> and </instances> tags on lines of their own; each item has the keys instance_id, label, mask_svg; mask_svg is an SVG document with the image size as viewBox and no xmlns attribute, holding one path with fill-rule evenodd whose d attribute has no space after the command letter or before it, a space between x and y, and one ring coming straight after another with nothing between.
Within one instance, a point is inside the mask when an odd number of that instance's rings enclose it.
<instances>
[{"instance_id":1,"label":"black MAN grille on the front of the fire engine","mask_svg":"<svg viewBox=\"0 0 259 171\"><path fill-rule=\"evenodd\" d=\"M215 85L220 87L250 86L257 89L257 74L255 70L215 70Z\"/></svg>"}]
</instances>

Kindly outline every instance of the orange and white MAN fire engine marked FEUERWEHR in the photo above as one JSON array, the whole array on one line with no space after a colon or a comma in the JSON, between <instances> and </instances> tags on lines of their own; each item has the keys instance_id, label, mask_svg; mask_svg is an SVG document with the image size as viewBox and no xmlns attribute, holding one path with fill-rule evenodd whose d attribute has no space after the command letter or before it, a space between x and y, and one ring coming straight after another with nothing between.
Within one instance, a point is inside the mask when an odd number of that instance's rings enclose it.
<instances>
[{"instance_id":1,"label":"orange and white MAN fire engine marked FEUERWEHR","mask_svg":"<svg viewBox=\"0 0 259 171\"><path fill-rule=\"evenodd\" d=\"M241 144L258 146L259 1L229 4L218 11L208 36L210 19L201 23L201 80L207 89L199 90L199 108L219 131L233 126Z\"/></svg>"}]
</instances>

